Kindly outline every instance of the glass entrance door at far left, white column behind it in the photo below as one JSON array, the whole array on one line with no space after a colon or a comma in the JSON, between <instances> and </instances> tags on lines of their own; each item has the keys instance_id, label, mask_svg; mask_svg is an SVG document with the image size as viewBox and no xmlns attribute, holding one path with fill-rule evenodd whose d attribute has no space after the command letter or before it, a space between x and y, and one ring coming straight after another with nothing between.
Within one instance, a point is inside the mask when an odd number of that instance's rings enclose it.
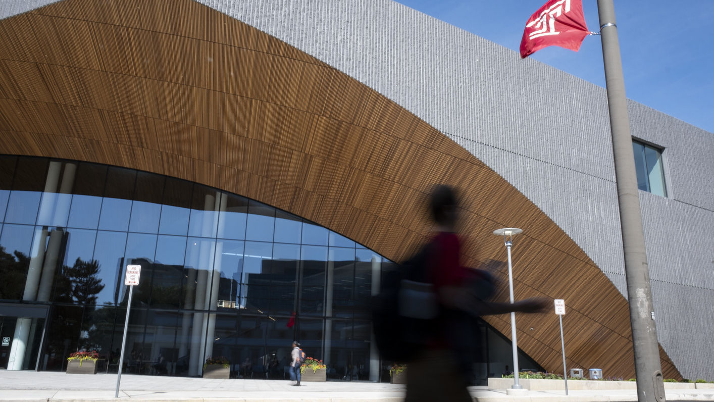
<instances>
[{"instance_id":1,"label":"glass entrance door at far left, white column behind it","mask_svg":"<svg viewBox=\"0 0 714 402\"><path fill-rule=\"evenodd\" d=\"M49 306L0 303L0 368L39 370Z\"/></svg>"}]
</instances>

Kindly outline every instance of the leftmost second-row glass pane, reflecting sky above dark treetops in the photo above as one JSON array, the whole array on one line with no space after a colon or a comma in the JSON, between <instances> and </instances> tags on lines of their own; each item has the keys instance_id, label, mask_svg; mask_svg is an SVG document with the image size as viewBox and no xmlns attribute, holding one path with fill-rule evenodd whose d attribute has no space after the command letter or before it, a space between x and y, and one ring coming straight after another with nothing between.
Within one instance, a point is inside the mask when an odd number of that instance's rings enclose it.
<instances>
[{"instance_id":1,"label":"leftmost second-row glass pane, reflecting sky above dark treetops","mask_svg":"<svg viewBox=\"0 0 714 402\"><path fill-rule=\"evenodd\" d=\"M0 299L21 300L25 288L27 267L34 226L3 226L0 236Z\"/></svg>"}]
</instances>

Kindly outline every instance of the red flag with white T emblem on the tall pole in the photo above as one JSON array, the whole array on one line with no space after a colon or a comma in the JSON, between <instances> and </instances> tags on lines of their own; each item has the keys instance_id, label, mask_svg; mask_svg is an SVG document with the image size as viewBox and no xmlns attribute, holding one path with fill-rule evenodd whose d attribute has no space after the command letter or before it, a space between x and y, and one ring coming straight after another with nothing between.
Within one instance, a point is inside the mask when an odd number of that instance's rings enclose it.
<instances>
[{"instance_id":1,"label":"red flag with white T emblem on the tall pole","mask_svg":"<svg viewBox=\"0 0 714 402\"><path fill-rule=\"evenodd\" d=\"M547 46L578 51L588 34L581 0L550 0L528 19L521 39L521 58Z\"/></svg>"}]
</instances>

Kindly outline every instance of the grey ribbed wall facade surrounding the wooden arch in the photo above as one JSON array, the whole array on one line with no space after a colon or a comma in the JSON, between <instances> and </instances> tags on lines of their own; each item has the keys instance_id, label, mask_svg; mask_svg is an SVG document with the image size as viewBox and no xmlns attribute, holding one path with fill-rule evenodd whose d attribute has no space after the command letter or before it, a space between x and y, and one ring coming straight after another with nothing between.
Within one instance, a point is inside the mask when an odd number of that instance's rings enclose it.
<instances>
[{"instance_id":1,"label":"grey ribbed wall facade surrounding the wooden arch","mask_svg":"<svg viewBox=\"0 0 714 402\"><path fill-rule=\"evenodd\" d=\"M0 16L51 2L3 2ZM450 136L626 293L605 89L390 0L199 2L335 66ZM629 109L633 136L665 147L670 196L640 192L659 340L683 376L711 380L714 135L635 102Z\"/></svg>"}]
</instances>

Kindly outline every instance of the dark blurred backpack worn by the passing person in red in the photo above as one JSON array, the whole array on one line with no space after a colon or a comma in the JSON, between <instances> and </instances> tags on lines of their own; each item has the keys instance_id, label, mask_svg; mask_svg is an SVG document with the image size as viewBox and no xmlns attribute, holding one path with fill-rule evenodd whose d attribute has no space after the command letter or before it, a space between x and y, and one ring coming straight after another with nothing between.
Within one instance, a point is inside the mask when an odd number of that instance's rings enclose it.
<instances>
[{"instance_id":1,"label":"dark blurred backpack worn by the passing person in red","mask_svg":"<svg viewBox=\"0 0 714 402\"><path fill-rule=\"evenodd\" d=\"M428 259L431 243L384 273L380 291L371 298L375 341L383 358L408 361L433 335L439 308Z\"/></svg>"}]
</instances>

